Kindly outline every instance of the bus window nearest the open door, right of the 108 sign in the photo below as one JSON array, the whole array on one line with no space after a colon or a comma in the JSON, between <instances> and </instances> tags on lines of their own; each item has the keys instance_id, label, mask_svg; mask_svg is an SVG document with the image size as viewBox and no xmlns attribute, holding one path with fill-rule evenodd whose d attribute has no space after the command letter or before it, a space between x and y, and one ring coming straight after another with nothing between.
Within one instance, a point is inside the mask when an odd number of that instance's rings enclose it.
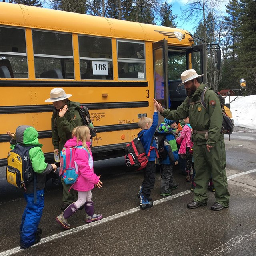
<instances>
[{"instance_id":1,"label":"bus window nearest the open door, right of the 108 sign","mask_svg":"<svg viewBox=\"0 0 256 256\"><path fill-rule=\"evenodd\" d=\"M118 41L118 78L145 80L144 43Z\"/></svg>"}]
</instances>

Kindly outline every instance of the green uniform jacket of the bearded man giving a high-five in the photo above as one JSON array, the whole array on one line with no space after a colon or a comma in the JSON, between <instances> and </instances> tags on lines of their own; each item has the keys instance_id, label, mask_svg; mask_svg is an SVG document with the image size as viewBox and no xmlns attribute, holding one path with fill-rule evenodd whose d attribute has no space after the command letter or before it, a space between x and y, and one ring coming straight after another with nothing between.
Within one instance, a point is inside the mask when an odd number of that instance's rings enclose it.
<instances>
[{"instance_id":1,"label":"green uniform jacket of the bearded man giving a high-five","mask_svg":"<svg viewBox=\"0 0 256 256\"><path fill-rule=\"evenodd\" d=\"M188 105L188 97L178 106L177 110L164 110L162 116L171 120L181 120L189 116L190 125L194 130L208 130L208 139L205 134L192 134L192 141L195 144L208 144L214 146L218 140L223 140L224 136L221 133L222 128L222 110L218 95L213 90L207 90L205 93L206 109L200 102L202 91L206 85L201 83L193 95L188 96L190 102L197 103Z\"/></svg>"}]
</instances>

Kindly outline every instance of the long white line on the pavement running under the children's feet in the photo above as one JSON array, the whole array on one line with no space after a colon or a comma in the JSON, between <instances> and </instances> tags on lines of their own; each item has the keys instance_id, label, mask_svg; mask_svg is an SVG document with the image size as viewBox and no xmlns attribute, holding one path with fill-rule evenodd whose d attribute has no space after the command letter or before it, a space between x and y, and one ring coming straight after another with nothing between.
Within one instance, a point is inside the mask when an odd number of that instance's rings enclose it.
<instances>
[{"instance_id":1,"label":"long white line on the pavement running under the children's feet","mask_svg":"<svg viewBox=\"0 0 256 256\"><path fill-rule=\"evenodd\" d=\"M229 176L228 177L228 180L232 179L232 178L236 178L238 176L241 176L241 175L245 175L245 174L249 174L249 173L252 173L252 172L256 172L256 169L253 169L253 170L250 170L250 171L247 171L247 172L241 172L241 173L238 173L238 174L234 174L232 176ZM173 200L174 198L177 198L177 197L180 197L180 196L184 196L186 194L189 194L191 193L190 190L186 190L184 192L180 192L178 194L175 194L173 196L168 196L166 198L162 198L162 199L159 199L159 200L156 200L154 201L154 205L156 204L160 204L160 203L163 203L163 202L167 202L167 201L170 201L170 200ZM72 234L72 233L75 233L75 232L79 232L79 231L82 231L82 230L85 230L87 228L91 228L93 226L98 226L100 224L103 224L105 222L109 222L111 220L115 220L117 218L120 218L122 216L126 216L128 214L132 214L134 212L138 212L140 211L140 207L136 207L136 208L133 208L133 209L130 209L130 210L127 210L127 211L124 211L124 212L120 212L118 214L115 214L115 215L112 215L112 216L109 216L107 218L103 218L101 220L98 220L96 222L91 222L89 224L84 224L82 226L79 226L79 227L76 227L76 228L72 228L70 230L66 230L66 231L63 231L61 233L58 233L58 234L54 234L52 236L48 236L46 238L42 238L41 241L37 244L35 244L34 246L37 246L39 244L43 244L43 243L46 243L46 242L49 242L49 241L52 241L52 240L55 240L57 238L61 238L63 236L67 236L69 234ZM232 238L233 239L233 238ZM232 240L231 239L231 240ZM28 249L27 249L28 250ZM215 249L216 250L216 249ZM6 250L4 252L0 252L0 256L9 256L9 255L12 255L12 254L15 254L17 252L22 252L23 250L20 250L20 247L16 247L16 248L13 248L13 249L10 249L10 250ZM208 256L208 254L206 254L205 256ZM214 255L212 255L214 256Z\"/></svg>"}]
</instances>

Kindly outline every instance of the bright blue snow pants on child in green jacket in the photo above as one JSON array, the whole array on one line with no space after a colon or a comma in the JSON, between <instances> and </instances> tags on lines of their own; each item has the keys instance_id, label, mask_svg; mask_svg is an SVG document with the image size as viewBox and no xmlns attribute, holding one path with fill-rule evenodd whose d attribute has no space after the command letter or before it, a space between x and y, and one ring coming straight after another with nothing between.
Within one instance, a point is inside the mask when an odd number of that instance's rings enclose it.
<instances>
[{"instance_id":1,"label":"bright blue snow pants on child in green jacket","mask_svg":"<svg viewBox=\"0 0 256 256\"><path fill-rule=\"evenodd\" d=\"M34 203L34 193L24 193L24 198L27 205L20 224L20 244L29 247L35 241L36 230L43 214L44 189L36 191L36 203Z\"/></svg>"}]
</instances>

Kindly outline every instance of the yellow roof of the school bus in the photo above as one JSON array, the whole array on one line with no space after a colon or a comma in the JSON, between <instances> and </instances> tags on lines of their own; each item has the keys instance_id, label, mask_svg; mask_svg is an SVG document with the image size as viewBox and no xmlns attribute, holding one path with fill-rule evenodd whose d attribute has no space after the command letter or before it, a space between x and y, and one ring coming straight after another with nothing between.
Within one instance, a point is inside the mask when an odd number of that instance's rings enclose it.
<instances>
[{"instance_id":1,"label":"yellow roof of the school bus","mask_svg":"<svg viewBox=\"0 0 256 256\"><path fill-rule=\"evenodd\" d=\"M169 44L184 46L191 46L193 43L192 36L186 30L178 28L168 28L5 2L0 2L0 10L0 24L2 25L128 40L157 42L166 39Z\"/></svg>"}]
</instances>

